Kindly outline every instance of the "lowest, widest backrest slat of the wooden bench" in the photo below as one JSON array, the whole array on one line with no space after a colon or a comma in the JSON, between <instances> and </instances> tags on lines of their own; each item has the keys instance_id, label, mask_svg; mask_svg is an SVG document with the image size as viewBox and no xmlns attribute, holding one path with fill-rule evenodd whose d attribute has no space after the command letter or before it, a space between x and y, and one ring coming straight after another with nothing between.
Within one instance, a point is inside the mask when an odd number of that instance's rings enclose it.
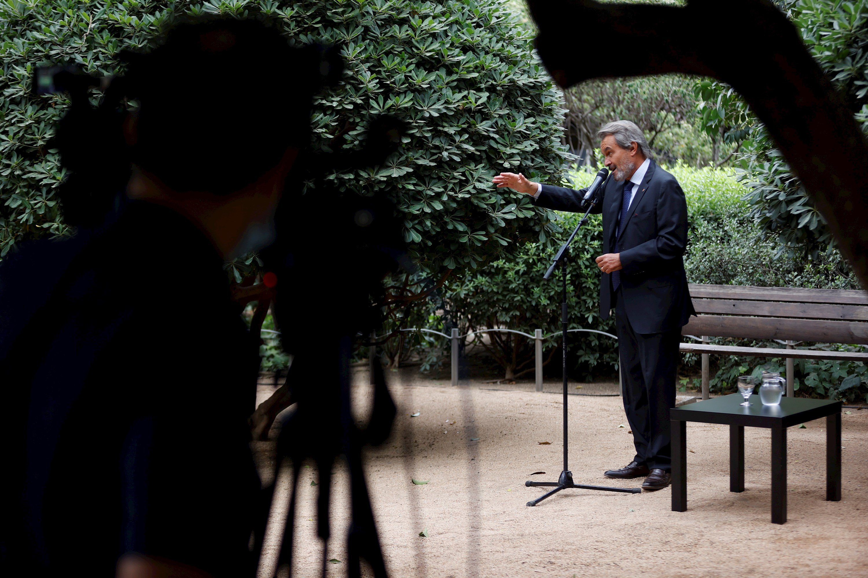
<instances>
[{"instance_id":1,"label":"lowest, widest backrest slat of the wooden bench","mask_svg":"<svg viewBox=\"0 0 868 578\"><path fill-rule=\"evenodd\" d=\"M681 334L868 345L868 323L859 321L700 315L691 316Z\"/></svg>"}]
</instances>

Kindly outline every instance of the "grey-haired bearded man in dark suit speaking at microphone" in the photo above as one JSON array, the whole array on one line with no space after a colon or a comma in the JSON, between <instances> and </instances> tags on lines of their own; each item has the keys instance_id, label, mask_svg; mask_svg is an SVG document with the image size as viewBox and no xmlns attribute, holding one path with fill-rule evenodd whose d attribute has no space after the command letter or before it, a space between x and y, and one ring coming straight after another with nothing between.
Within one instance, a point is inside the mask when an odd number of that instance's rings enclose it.
<instances>
[{"instance_id":1,"label":"grey-haired bearded man in dark suit speaking at microphone","mask_svg":"<svg viewBox=\"0 0 868 578\"><path fill-rule=\"evenodd\" d=\"M612 171L591 212L602 213L603 255L600 316L615 309L621 356L624 410L633 430L636 455L607 477L646 477L642 488L670 484L669 408L675 406L675 376L681 327L695 315L682 255L687 244L687 202L678 181L657 166L641 130L616 120L597 133ZM509 186L556 211L584 212L584 192L540 185L523 174L502 172L497 186ZM601 198L602 197L602 198Z\"/></svg>"}]
</instances>

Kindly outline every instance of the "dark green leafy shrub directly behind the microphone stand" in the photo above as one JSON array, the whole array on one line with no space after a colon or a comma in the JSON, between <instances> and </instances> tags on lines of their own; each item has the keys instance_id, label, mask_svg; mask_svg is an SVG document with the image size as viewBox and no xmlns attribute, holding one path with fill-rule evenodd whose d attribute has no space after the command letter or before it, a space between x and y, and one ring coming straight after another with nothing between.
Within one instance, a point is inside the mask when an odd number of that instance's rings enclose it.
<instances>
[{"instance_id":1,"label":"dark green leafy shrub directly behind the microphone stand","mask_svg":"<svg viewBox=\"0 0 868 578\"><path fill-rule=\"evenodd\" d=\"M569 236L579 215L565 213L559 224L562 232L553 239L557 246ZM542 329L544 363L560 359L561 274L548 281L542 276L549 269L555 247L528 243L515 256L501 259L464 278L447 283L444 295L459 331L465 334L483 328L508 328L533 334ZM602 224L599 215L589 218L573 241L567 265L569 285L569 328L594 328L615 333L614 320L602 321L599 315L600 277L594 262L602 253ZM504 378L511 380L532 373L535 341L512 333L488 333L477 341L503 367ZM617 342L605 335L569 335L570 364L575 373L588 378L592 373L617 370ZM599 367L598 367L599 366ZM557 373L560 373L558 370Z\"/></svg>"}]
</instances>

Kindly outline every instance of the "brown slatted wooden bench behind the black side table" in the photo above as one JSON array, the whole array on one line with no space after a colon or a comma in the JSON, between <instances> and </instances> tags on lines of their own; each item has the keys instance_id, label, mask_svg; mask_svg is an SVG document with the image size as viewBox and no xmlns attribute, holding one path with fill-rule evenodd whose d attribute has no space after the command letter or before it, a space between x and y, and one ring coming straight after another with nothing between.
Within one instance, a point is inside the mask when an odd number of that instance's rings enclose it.
<instances>
[{"instance_id":1,"label":"brown slatted wooden bench behind the black side table","mask_svg":"<svg viewBox=\"0 0 868 578\"><path fill-rule=\"evenodd\" d=\"M866 361L868 353L795 349L800 341L868 345L868 292L740 285L690 285L698 317L681 329L700 343L681 351L702 355L702 399L708 399L708 355L786 358L792 397L793 359ZM713 345L712 337L778 341L786 348Z\"/></svg>"}]
</instances>

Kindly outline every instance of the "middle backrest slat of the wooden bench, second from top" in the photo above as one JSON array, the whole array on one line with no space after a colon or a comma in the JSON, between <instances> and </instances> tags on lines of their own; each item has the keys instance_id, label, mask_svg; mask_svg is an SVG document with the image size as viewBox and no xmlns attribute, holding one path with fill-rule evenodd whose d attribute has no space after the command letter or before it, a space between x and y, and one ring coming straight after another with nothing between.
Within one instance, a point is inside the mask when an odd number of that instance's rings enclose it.
<instances>
[{"instance_id":1,"label":"middle backrest slat of the wooden bench, second from top","mask_svg":"<svg viewBox=\"0 0 868 578\"><path fill-rule=\"evenodd\" d=\"M720 315L762 315L766 317L801 317L803 319L833 319L868 321L868 307L862 305L830 305L826 303L789 303L773 301L733 301L732 299L698 299L697 313Z\"/></svg>"}]
</instances>

